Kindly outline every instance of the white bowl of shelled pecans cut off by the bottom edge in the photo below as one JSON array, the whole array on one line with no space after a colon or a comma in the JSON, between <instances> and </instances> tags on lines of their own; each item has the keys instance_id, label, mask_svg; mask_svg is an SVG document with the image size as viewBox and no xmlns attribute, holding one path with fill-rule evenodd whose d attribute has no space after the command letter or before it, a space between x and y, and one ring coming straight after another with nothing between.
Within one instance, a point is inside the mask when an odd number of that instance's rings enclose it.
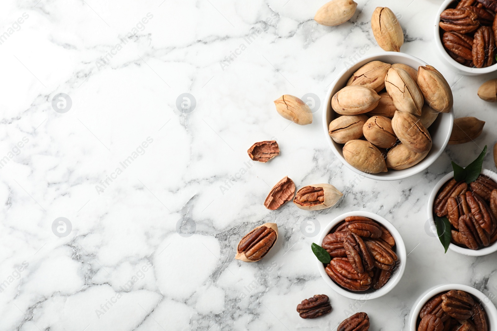
<instances>
[{"instance_id":1,"label":"white bowl of shelled pecans cut off by the bottom edge","mask_svg":"<svg viewBox=\"0 0 497 331\"><path fill-rule=\"evenodd\" d=\"M439 285L417 299L409 323L413 331L492 331L497 325L497 309L473 287Z\"/></svg>"}]
</instances>

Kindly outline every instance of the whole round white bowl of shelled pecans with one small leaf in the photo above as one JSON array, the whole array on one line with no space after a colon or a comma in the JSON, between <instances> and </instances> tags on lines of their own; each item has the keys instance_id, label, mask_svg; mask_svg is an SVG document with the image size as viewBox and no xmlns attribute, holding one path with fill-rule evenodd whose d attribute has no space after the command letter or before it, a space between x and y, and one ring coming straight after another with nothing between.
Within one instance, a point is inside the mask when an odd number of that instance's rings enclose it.
<instances>
[{"instance_id":1,"label":"whole round white bowl of shelled pecans with one small leaf","mask_svg":"<svg viewBox=\"0 0 497 331\"><path fill-rule=\"evenodd\" d=\"M397 229L385 218L351 211L334 218L322 231L319 244L331 256L318 269L338 294L354 300L379 298L401 280L406 247Z\"/></svg>"}]
</instances>

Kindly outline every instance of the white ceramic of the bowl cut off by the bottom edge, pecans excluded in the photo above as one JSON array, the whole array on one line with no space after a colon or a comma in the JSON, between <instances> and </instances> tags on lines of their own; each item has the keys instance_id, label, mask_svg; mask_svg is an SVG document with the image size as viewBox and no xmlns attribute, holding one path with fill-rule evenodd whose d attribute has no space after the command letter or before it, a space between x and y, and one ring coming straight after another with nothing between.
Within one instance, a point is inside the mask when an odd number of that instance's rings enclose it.
<instances>
[{"instance_id":1,"label":"white ceramic of the bowl cut off by the bottom edge, pecans excluded","mask_svg":"<svg viewBox=\"0 0 497 331\"><path fill-rule=\"evenodd\" d=\"M414 303L413 309L411 309L410 317L409 317L409 330L415 331L417 330L416 324L417 324L417 317L419 316L419 312L421 311L421 308L423 308L424 304L434 297L435 295L445 292L445 291L450 291L450 290L459 290L459 291L465 291L471 295L473 295L475 298L480 300L482 307L485 309L485 312L487 313L487 319L489 322L489 330L494 331L497 327L497 309L490 301L490 299L477 290L476 288L467 286L467 285L461 285L461 284L446 284L446 285L437 285L435 287L430 288L416 300Z\"/></svg>"}]
</instances>

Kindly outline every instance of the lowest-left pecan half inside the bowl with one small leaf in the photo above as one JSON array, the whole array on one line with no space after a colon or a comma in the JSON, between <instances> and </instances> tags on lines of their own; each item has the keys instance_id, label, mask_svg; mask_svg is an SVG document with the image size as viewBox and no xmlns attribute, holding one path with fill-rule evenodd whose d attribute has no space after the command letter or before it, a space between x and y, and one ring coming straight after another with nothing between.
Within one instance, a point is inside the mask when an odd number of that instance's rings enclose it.
<instances>
[{"instance_id":1,"label":"lowest-left pecan half inside the bowl with one small leaf","mask_svg":"<svg viewBox=\"0 0 497 331\"><path fill-rule=\"evenodd\" d=\"M338 285L351 291L365 291L371 284L371 276L364 273L357 273L347 258L333 258L326 266L326 273Z\"/></svg>"}]
</instances>

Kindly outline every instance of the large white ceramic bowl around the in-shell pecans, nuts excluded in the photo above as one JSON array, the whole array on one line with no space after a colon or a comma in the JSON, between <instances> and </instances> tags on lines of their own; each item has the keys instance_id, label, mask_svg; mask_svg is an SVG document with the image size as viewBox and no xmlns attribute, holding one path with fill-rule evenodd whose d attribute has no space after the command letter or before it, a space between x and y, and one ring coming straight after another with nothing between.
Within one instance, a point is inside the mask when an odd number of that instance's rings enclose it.
<instances>
[{"instance_id":1,"label":"large white ceramic bowl around the in-shell pecans, nuts excluded","mask_svg":"<svg viewBox=\"0 0 497 331\"><path fill-rule=\"evenodd\" d=\"M345 69L338 75L338 78L335 80L334 84L331 85L330 90L326 96L327 106L326 112L323 112L323 126L326 135L326 139L330 143L331 149L336 157L350 170L353 172L368 177L371 179L376 179L380 181L395 181L403 178L407 178L417 174L418 172L423 171L428 168L435 160L442 154L445 146L447 146L447 142L449 142L450 134L452 132L452 126L454 121L454 112L453 109L450 110L447 114L440 114L438 118L433 122L433 124L429 127L428 131L430 132L431 139L433 140L433 146L431 147L430 152L426 157L421 160L418 164L414 165L411 168L407 168L404 170L392 170L389 169L388 172L381 172L378 174L370 174L362 172L350 164L343 158L343 144L338 144L331 139L328 134L328 128L330 126L330 122L334 120L339 114L336 114L331 108L331 98L333 95L338 92L342 87L345 86L347 80L352 76L352 74L361 66L371 62L371 61L382 61L385 63L403 63L408 66L412 66L417 69L419 66L425 66L426 63L407 54L397 53L397 52L383 52L377 53L369 56L365 56L360 59L354 66L349 69Z\"/></svg>"}]
</instances>

